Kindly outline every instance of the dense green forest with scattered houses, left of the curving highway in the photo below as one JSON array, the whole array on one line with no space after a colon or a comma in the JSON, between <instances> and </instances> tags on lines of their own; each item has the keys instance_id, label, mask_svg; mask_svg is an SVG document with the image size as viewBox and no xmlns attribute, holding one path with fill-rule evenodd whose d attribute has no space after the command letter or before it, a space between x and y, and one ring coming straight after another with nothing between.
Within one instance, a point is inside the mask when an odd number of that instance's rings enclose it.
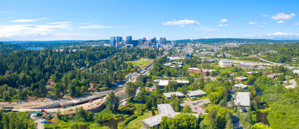
<instances>
[{"instance_id":1,"label":"dense green forest with scattered houses, left of the curving highway","mask_svg":"<svg viewBox=\"0 0 299 129\"><path fill-rule=\"evenodd\" d=\"M54 97L66 93L80 96L90 81L111 88L113 83L122 81L126 73L138 70L125 61L139 57L153 59L161 54L162 51L157 49L114 47L84 47L62 52L51 49L2 52L0 98L1 101L12 101L27 96L45 97L47 80L56 83Z\"/></svg>"}]
</instances>

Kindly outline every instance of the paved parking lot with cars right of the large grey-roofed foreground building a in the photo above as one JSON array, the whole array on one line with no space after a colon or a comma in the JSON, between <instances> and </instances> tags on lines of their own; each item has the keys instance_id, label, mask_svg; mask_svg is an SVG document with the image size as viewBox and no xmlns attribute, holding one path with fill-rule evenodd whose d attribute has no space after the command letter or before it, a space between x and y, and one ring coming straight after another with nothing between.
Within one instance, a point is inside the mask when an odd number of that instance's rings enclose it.
<instances>
[{"instance_id":1,"label":"paved parking lot with cars right of the large grey-roofed foreground building a","mask_svg":"<svg viewBox=\"0 0 299 129\"><path fill-rule=\"evenodd\" d=\"M197 113L202 113L202 114L207 114L205 110L200 107L206 103L210 103L210 100L208 98L206 99L201 99L201 100L195 100L195 101L187 101L184 100L184 103L181 104L182 107L185 107L185 105L189 105L192 108L193 112Z\"/></svg>"}]
</instances>

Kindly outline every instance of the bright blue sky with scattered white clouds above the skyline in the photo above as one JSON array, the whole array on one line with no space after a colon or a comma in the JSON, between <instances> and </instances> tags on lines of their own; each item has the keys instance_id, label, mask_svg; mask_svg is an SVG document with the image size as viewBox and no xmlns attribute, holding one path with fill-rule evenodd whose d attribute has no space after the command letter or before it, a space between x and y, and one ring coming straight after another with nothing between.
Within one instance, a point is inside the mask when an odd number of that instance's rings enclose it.
<instances>
[{"instance_id":1,"label":"bright blue sky with scattered white clouds above the skyline","mask_svg":"<svg viewBox=\"0 0 299 129\"><path fill-rule=\"evenodd\" d=\"M0 40L299 38L299 0L5 0Z\"/></svg>"}]
</instances>

